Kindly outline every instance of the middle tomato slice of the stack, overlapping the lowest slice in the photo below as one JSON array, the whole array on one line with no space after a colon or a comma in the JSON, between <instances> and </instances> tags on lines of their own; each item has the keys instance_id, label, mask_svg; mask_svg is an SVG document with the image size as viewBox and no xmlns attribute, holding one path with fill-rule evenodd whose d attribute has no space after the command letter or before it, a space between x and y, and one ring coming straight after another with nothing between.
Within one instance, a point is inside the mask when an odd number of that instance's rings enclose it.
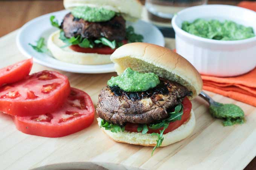
<instances>
[{"instance_id":1,"label":"middle tomato slice of the stack, overlapping the lowest slice","mask_svg":"<svg viewBox=\"0 0 256 170\"><path fill-rule=\"evenodd\" d=\"M17 116L55 111L65 102L69 92L69 80L65 75L41 71L0 87L0 111Z\"/></svg>"}]
</instances>

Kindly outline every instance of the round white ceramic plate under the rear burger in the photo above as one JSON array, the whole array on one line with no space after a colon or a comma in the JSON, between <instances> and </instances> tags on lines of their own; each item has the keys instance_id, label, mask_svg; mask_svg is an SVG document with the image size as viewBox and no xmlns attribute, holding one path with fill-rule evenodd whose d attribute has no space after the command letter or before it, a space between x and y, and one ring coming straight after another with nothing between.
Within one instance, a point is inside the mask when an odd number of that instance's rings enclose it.
<instances>
[{"instance_id":1,"label":"round white ceramic plate under the rear burger","mask_svg":"<svg viewBox=\"0 0 256 170\"><path fill-rule=\"evenodd\" d=\"M47 54L38 53L32 47L30 47L30 45L28 45L29 43L36 44L36 41L40 37L44 37L46 43L49 35L57 30L57 28L53 27L50 24L50 16L55 15L56 19L60 23L68 12L68 10L63 10L42 15L41 17L35 18L34 20L29 21L23 27L21 27L16 39L18 48L21 53L24 54L26 57L33 57L34 62L62 71L77 73L114 72L115 70L113 63L105 65L77 65L72 63L66 63L57 60ZM126 26L129 25L134 27L136 33L143 35L144 42L165 46L165 40L162 33L157 29L157 27L153 26L152 24L139 20L136 23L126 22Z\"/></svg>"}]
</instances>

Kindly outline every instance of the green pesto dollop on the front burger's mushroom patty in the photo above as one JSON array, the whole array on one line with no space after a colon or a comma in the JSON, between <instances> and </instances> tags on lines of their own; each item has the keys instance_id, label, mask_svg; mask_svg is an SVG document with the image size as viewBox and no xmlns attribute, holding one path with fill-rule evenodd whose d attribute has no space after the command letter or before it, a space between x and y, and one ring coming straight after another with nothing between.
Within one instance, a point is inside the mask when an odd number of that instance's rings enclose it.
<instances>
[{"instance_id":1,"label":"green pesto dollop on the front burger's mushroom patty","mask_svg":"<svg viewBox=\"0 0 256 170\"><path fill-rule=\"evenodd\" d=\"M143 92L159 83L160 80L155 73L140 73L131 68L126 68L121 75L108 80L108 86L119 86L125 92Z\"/></svg>"}]
</instances>

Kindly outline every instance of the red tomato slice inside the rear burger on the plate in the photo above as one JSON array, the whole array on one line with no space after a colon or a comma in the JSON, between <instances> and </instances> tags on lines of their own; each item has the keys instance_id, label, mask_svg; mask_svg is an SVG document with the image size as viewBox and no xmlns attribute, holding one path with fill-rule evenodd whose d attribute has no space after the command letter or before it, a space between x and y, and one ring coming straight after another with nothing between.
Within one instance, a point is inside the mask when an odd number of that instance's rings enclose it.
<instances>
[{"instance_id":1,"label":"red tomato slice inside the rear burger on the plate","mask_svg":"<svg viewBox=\"0 0 256 170\"><path fill-rule=\"evenodd\" d=\"M127 44L127 40L122 41L123 44ZM71 45L70 48L76 52L80 53L97 53L97 54L112 54L114 53L115 49L111 49L108 46L103 47L94 47L94 48L82 48L79 45Z\"/></svg>"}]
</instances>

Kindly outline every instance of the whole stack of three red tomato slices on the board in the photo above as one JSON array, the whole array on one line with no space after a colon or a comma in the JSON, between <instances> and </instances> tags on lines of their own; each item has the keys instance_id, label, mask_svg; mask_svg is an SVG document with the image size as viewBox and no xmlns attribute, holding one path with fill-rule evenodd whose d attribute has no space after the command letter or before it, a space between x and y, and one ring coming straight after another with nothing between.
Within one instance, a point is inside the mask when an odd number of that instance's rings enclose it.
<instances>
[{"instance_id":1,"label":"whole stack of three red tomato slices on the board","mask_svg":"<svg viewBox=\"0 0 256 170\"><path fill-rule=\"evenodd\" d=\"M70 87L65 75L41 71L29 75L32 59L0 69L0 111L12 116L21 132L62 137L94 120L90 96Z\"/></svg>"}]
</instances>

